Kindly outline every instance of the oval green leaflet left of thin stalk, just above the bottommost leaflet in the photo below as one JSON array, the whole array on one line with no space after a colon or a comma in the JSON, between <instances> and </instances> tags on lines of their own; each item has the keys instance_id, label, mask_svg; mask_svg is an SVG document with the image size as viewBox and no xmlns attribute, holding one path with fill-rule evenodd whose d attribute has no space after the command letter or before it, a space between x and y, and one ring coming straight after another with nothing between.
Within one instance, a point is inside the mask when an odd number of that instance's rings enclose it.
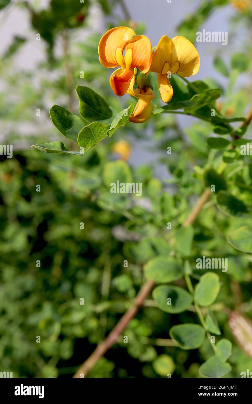
<instances>
[{"instance_id":1,"label":"oval green leaflet left of thin stalk, just above the bottommost leaflet","mask_svg":"<svg viewBox=\"0 0 252 404\"><path fill-rule=\"evenodd\" d=\"M179 324L173 326L169 334L182 349L199 348L205 339L205 330L199 324Z\"/></svg>"}]
</instances>

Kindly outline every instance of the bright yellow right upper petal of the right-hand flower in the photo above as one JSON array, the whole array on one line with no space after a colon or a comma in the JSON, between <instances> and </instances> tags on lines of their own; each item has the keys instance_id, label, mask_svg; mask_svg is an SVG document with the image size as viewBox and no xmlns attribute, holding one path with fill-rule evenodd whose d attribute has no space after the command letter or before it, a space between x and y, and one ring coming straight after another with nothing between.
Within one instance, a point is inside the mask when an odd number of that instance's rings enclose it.
<instances>
[{"instance_id":1,"label":"bright yellow right upper petal of the right-hand flower","mask_svg":"<svg viewBox=\"0 0 252 404\"><path fill-rule=\"evenodd\" d=\"M199 71L199 53L195 46L183 36L172 38L171 72L182 77L193 76ZM176 70L176 71L174 71Z\"/></svg>"}]
</instances>

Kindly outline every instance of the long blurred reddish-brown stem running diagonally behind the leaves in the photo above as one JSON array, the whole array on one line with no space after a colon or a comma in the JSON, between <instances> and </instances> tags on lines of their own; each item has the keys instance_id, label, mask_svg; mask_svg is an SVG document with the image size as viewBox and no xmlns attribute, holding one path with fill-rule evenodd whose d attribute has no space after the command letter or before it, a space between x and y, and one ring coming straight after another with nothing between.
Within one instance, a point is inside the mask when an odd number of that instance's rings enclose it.
<instances>
[{"instance_id":1,"label":"long blurred reddish-brown stem running diagonally behind the leaves","mask_svg":"<svg viewBox=\"0 0 252 404\"><path fill-rule=\"evenodd\" d=\"M192 210L186 221L184 222L183 226L188 226L191 225L197 215L199 214L203 204L207 202L208 198L210 196L210 191L204 191L201 198L199 198L195 208ZM136 316L136 313L138 312L138 309L143 305L144 300L148 296L148 294L151 292L153 287L155 286L155 282L153 280L148 280L146 284L140 289L138 292L138 295L136 297L135 303L132 307L130 307L126 313L123 315L121 320L116 324L116 326L113 328L113 330L110 332L108 337L96 347L96 349L93 351L91 356L80 366L80 368L77 370L75 373L74 377L85 377L87 373L93 368L93 366L96 364L96 362L104 356L104 354L108 351L108 349L114 345L114 343L117 341L119 335L123 330L127 327L129 324L130 320Z\"/></svg>"}]
</instances>

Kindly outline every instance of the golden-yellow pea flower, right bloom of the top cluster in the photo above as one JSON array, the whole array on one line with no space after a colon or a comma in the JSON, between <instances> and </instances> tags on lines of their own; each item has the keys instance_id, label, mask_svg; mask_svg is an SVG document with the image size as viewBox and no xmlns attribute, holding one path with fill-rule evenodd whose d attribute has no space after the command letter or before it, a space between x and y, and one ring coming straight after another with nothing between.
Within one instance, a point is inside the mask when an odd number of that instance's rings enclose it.
<instances>
[{"instance_id":1,"label":"golden-yellow pea flower, right bloom of the top cluster","mask_svg":"<svg viewBox=\"0 0 252 404\"><path fill-rule=\"evenodd\" d=\"M152 56L150 71L157 73L161 100L168 103L173 96L173 89L168 74L182 77L193 76L199 71L199 54L195 46L183 36L170 39L164 35L157 44Z\"/></svg>"}]
</instances>

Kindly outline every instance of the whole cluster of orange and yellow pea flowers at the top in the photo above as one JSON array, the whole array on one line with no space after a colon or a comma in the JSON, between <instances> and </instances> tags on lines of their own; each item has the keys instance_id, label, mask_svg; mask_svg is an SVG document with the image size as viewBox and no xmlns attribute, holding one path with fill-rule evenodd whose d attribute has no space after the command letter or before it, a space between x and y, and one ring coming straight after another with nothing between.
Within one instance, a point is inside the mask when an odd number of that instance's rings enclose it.
<instances>
[{"instance_id":1,"label":"whole cluster of orange and yellow pea flowers at the top","mask_svg":"<svg viewBox=\"0 0 252 404\"><path fill-rule=\"evenodd\" d=\"M152 91L148 72L157 73L159 95L168 103L173 96L169 82L171 74L189 77L199 70L199 54L195 46L183 36L172 39L162 36L152 52L150 40L145 35L136 35L129 27L115 27L106 32L98 47L100 63L105 67L118 67L110 76L110 86L119 97L127 94L137 97L138 103L131 114L131 122L141 123L152 114ZM137 77L138 88L134 88L137 69L146 80Z\"/></svg>"}]
</instances>

